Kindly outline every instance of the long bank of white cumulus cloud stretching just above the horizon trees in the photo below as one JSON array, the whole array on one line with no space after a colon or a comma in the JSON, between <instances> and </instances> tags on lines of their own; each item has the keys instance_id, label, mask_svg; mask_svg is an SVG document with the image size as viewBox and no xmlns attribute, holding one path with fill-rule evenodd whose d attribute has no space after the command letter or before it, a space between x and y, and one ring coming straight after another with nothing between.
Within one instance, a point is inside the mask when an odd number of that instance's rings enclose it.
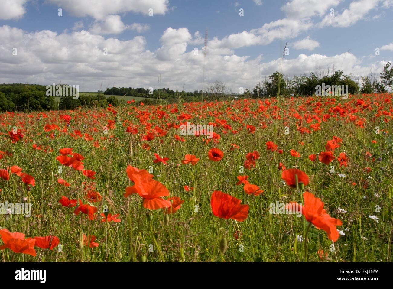
<instances>
[{"instance_id":1,"label":"long bank of white cumulus cloud stretching just above the horizon trees","mask_svg":"<svg viewBox=\"0 0 393 289\"><path fill-rule=\"evenodd\" d=\"M0 39L0 78L6 83L47 85L62 81L79 85L81 91L105 90L113 83L116 87L158 88L157 75L161 74L163 87L181 91L184 86L185 91L193 91L202 89L204 63L205 83L219 79L233 91L239 91L239 87L253 88L259 78L259 57L235 55L229 48L208 47L206 58L204 53L187 52L187 44L193 41L187 28L165 29L160 39L162 47L156 52L146 48L142 36L131 40L105 39L85 30L27 33L0 26ZM17 48L17 55L12 55L13 48ZM107 55L103 53L105 48ZM230 53L224 53L225 50ZM261 63L260 67L262 77L281 68L285 75L292 76L332 65L345 74L367 75L382 71L386 61L362 65L362 59L349 52L334 56L300 54L294 59L279 57Z\"/></svg>"}]
</instances>

